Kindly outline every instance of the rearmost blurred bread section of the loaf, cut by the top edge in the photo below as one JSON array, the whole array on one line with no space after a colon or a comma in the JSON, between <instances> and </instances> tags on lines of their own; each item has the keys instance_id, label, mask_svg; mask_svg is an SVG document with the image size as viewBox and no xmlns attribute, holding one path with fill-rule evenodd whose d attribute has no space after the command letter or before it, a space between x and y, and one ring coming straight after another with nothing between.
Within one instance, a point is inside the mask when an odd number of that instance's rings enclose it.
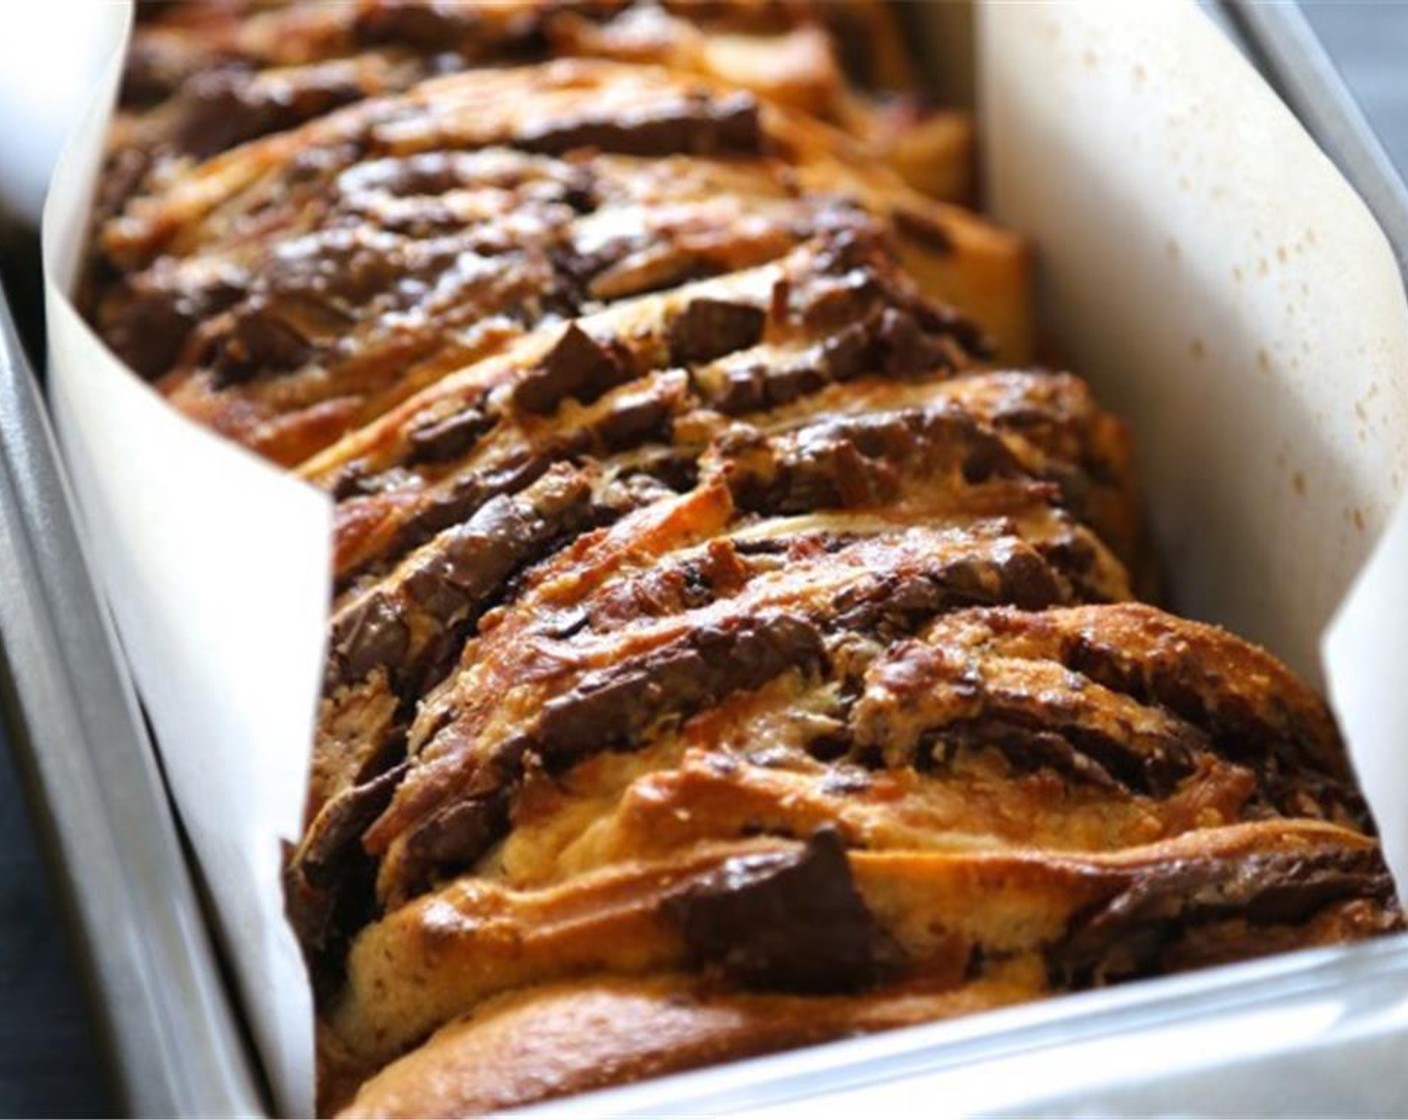
<instances>
[{"instance_id":1,"label":"rearmost blurred bread section of the loaf, cut by the top edge","mask_svg":"<svg viewBox=\"0 0 1408 1120\"><path fill-rule=\"evenodd\" d=\"M966 118L893 97L912 87L912 68L888 6L874 0L151 4L128 56L114 169L125 159L137 165L128 178L159 179L166 163L435 73L549 55L663 65L748 89L842 124L914 185L966 201Z\"/></svg>"}]
</instances>

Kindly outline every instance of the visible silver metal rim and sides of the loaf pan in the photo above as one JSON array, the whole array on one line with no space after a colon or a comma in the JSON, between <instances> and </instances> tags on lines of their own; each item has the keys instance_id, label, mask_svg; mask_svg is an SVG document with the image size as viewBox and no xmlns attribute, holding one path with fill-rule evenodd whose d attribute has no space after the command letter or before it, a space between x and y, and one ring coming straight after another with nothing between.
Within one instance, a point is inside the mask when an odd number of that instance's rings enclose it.
<instances>
[{"instance_id":1,"label":"visible silver metal rim and sides of the loaf pan","mask_svg":"<svg viewBox=\"0 0 1408 1120\"><path fill-rule=\"evenodd\" d=\"M1300 10L1205 7L1350 178L1408 266L1408 192ZM148 1116L262 1114L262 1082L3 296L0 535L0 714L86 947L125 1103ZM810 1116L924 1102L945 1114L1401 1114L1405 1045L1408 935L814 1047L534 1113Z\"/></svg>"}]
</instances>

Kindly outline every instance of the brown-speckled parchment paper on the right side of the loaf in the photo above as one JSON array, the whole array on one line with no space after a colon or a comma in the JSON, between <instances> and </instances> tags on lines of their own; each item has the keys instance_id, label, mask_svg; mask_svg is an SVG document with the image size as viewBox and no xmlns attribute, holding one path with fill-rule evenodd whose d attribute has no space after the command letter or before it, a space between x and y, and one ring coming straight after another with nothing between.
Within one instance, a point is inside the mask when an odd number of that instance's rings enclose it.
<instances>
[{"instance_id":1,"label":"brown-speckled parchment paper on the right side of the loaf","mask_svg":"<svg viewBox=\"0 0 1408 1120\"><path fill-rule=\"evenodd\" d=\"M1133 424L1174 606L1328 685L1408 883L1408 527L1319 658L1408 476L1388 241L1194 4L979 15L991 206L1041 247L1060 352Z\"/></svg>"}]
</instances>

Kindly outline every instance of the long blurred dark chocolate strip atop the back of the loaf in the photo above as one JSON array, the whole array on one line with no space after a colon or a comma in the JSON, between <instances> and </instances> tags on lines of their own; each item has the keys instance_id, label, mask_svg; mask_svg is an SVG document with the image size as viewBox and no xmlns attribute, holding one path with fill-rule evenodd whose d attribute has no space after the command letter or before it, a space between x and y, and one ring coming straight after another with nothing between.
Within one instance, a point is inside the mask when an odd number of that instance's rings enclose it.
<instances>
[{"instance_id":1,"label":"long blurred dark chocolate strip atop the back of the loaf","mask_svg":"<svg viewBox=\"0 0 1408 1120\"><path fill-rule=\"evenodd\" d=\"M527 127L514 147L548 155L573 148L620 155L760 155L765 138L756 99L732 93L687 97L614 117L555 117Z\"/></svg>"}]
</instances>

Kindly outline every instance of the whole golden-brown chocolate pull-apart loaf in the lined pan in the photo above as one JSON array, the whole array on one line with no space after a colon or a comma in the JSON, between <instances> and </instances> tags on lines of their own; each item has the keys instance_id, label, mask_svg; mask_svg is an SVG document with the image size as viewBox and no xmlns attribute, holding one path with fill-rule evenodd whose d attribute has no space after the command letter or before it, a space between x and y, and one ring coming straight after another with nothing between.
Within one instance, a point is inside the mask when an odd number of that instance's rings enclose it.
<instances>
[{"instance_id":1,"label":"whole golden-brown chocolate pull-apart loaf in the lined pan","mask_svg":"<svg viewBox=\"0 0 1408 1120\"><path fill-rule=\"evenodd\" d=\"M891 18L139 20L89 314L335 502L325 1112L1400 928L1324 702L1136 602L1125 427L1022 368L1026 248Z\"/></svg>"}]
</instances>

